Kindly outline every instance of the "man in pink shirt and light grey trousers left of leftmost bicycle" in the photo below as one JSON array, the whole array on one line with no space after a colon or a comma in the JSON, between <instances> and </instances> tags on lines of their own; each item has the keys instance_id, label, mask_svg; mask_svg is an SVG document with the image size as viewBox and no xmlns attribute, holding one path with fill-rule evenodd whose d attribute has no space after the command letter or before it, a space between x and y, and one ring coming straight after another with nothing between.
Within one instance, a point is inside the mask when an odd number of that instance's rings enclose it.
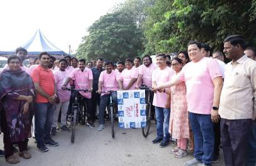
<instances>
[{"instance_id":1,"label":"man in pink shirt and light grey trousers left of leftmost bicycle","mask_svg":"<svg viewBox=\"0 0 256 166\"><path fill-rule=\"evenodd\" d=\"M70 131L69 128L67 128L67 110L69 108L69 99L71 96L70 91L66 91L64 89L61 89L64 85L67 77L69 77L69 72L66 70L67 68L67 60L64 58L61 58L59 60L59 69L54 71L54 79L56 84L56 90L57 90L57 96L59 98L59 102L55 103L55 111L54 111L54 117L52 120L52 135L56 134L56 128L59 118L59 111L61 110L61 130L63 131ZM67 84L67 87L70 87L69 84Z\"/></svg>"}]
</instances>

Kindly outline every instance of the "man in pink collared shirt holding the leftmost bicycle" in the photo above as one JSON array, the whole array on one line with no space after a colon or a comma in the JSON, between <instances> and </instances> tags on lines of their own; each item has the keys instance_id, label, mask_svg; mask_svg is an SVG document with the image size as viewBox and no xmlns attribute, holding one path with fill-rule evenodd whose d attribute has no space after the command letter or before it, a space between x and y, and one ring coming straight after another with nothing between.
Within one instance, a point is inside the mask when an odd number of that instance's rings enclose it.
<instances>
[{"instance_id":1,"label":"man in pink collared shirt holding the leftmost bicycle","mask_svg":"<svg viewBox=\"0 0 256 166\"><path fill-rule=\"evenodd\" d=\"M73 80L75 89L88 89L88 92L79 91L79 94L84 97L87 111L89 114L91 114L91 91L93 91L93 73L91 72L91 69L88 69L86 67L86 62L83 58L78 60L78 66L79 68L74 69L69 77L67 77L67 80L62 86L62 89L66 88L70 80ZM92 116L88 118L89 120L87 122L87 125L93 128L94 125L91 117Z\"/></svg>"}]
</instances>

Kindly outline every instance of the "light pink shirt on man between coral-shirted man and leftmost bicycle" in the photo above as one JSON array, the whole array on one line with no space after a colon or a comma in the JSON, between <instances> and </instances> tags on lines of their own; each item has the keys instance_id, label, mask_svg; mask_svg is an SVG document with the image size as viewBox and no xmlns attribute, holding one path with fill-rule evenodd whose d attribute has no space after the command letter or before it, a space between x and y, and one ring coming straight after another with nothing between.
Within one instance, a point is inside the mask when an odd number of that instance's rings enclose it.
<instances>
[{"instance_id":1,"label":"light pink shirt on man between coral-shirted man and leftmost bicycle","mask_svg":"<svg viewBox=\"0 0 256 166\"><path fill-rule=\"evenodd\" d=\"M57 89L57 95L59 96L59 100L61 102L68 101L71 96L70 91L61 89L61 87L64 85L67 77L69 77L69 73L67 72L67 70L65 70L65 71L55 70L54 71L54 79L55 79L55 84L56 84L56 89ZM70 87L70 84L67 84L67 87Z\"/></svg>"}]
</instances>

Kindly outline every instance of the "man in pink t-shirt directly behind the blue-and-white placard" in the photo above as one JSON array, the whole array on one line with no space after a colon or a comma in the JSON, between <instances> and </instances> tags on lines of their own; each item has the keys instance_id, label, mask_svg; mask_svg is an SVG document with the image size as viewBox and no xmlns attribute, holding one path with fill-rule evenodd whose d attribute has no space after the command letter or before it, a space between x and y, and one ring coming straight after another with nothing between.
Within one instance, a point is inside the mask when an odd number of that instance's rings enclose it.
<instances>
[{"instance_id":1,"label":"man in pink t-shirt directly behind the blue-and-white placard","mask_svg":"<svg viewBox=\"0 0 256 166\"><path fill-rule=\"evenodd\" d=\"M127 58L125 60L125 67L120 75L120 80L122 81L124 90L134 90L136 86L136 80L139 75L139 71L132 67L132 59Z\"/></svg>"}]
</instances>

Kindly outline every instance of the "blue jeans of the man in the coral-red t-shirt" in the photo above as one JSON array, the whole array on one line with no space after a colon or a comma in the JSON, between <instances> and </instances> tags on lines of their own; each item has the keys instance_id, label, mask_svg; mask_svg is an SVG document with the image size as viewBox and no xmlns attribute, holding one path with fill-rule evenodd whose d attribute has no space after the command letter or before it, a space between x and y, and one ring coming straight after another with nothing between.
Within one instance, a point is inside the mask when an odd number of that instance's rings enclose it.
<instances>
[{"instance_id":1,"label":"blue jeans of the man in the coral-red t-shirt","mask_svg":"<svg viewBox=\"0 0 256 166\"><path fill-rule=\"evenodd\" d=\"M50 140L50 130L54 114L54 104L35 103L35 138L38 145Z\"/></svg>"}]
</instances>

